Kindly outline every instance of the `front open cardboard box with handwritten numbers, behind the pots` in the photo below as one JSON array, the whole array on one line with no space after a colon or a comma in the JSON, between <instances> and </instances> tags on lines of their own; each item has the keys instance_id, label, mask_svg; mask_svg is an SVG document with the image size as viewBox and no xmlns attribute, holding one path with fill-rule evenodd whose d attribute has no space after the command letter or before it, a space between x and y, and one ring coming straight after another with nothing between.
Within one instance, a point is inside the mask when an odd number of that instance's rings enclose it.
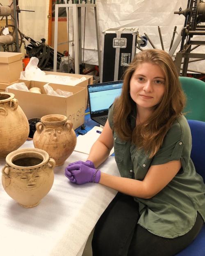
<instances>
[{"instance_id":1,"label":"front open cardboard box with handwritten numbers, behind the pots","mask_svg":"<svg viewBox=\"0 0 205 256\"><path fill-rule=\"evenodd\" d=\"M73 95L69 97L58 97L47 95L43 85L46 82L27 81L25 85L28 89L39 87L42 94L30 91L20 91L9 89L15 95L19 105L25 113L27 119L43 117L47 114L63 114L73 123L73 129L84 123L85 114L85 88L69 85L49 84L54 90L71 91Z\"/></svg>"}]
</instances>

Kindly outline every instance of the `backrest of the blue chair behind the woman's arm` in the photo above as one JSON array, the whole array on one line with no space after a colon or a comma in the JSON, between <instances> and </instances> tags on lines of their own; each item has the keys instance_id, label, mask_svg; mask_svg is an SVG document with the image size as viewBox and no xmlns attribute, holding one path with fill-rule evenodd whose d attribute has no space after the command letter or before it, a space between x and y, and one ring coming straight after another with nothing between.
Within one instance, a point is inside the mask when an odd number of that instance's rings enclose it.
<instances>
[{"instance_id":1,"label":"backrest of the blue chair behind the woman's arm","mask_svg":"<svg viewBox=\"0 0 205 256\"><path fill-rule=\"evenodd\" d=\"M188 123L192 137L191 159L194 162L196 172L205 181L205 122L188 120Z\"/></svg>"}]
</instances>

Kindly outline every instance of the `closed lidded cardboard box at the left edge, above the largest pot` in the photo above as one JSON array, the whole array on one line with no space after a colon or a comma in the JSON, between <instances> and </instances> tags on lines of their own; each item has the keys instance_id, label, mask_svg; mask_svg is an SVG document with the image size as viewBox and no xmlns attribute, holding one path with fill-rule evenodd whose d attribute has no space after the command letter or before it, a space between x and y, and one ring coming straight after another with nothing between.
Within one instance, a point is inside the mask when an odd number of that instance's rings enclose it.
<instances>
[{"instance_id":1,"label":"closed lidded cardboard box at the left edge, above the largest pot","mask_svg":"<svg viewBox=\"0 0 205 256\"><path fill-rule=\"evenodd\" d=\"M20 78L23 71L23 54L0 52L0 82L11 83Z\"/></svg>"}]
</instances>

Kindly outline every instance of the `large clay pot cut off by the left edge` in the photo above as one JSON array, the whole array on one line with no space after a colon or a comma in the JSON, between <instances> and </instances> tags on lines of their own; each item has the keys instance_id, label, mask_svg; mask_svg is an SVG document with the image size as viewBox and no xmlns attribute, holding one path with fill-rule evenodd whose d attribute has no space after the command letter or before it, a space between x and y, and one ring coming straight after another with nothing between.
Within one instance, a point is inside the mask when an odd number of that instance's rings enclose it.
<instances>
[{"instance_id":1,"label":"large clay pot cut off by the left edge","mask_svg":"<svg viewBox=\"0 0 205 256\"><path fill-rule=\"evenodd\" d=\"M14 94L0 92L0 157L18 149L29 134L29 123Z\"/></svg>"}]
</instances>

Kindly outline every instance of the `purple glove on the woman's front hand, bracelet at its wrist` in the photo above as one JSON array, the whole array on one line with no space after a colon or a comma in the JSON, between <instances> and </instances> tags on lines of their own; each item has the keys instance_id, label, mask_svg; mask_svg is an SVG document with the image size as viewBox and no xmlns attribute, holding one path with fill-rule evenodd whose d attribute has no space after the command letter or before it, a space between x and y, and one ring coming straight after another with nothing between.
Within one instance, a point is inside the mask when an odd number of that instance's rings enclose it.
<instances>
[{"instance_id":1,"label":"purple glove on the woman's front hand, bracelet at its wrist","mask_svg":"<svg viewBox=\"0 0 205 256\"><path fill-rule=\"evenodd\" d=\"M66 167L65 176L73 183L78 185L100 181L101 172L98 169L88 167L83 164L73 164Z\"/></svg>"}]
</instances>

